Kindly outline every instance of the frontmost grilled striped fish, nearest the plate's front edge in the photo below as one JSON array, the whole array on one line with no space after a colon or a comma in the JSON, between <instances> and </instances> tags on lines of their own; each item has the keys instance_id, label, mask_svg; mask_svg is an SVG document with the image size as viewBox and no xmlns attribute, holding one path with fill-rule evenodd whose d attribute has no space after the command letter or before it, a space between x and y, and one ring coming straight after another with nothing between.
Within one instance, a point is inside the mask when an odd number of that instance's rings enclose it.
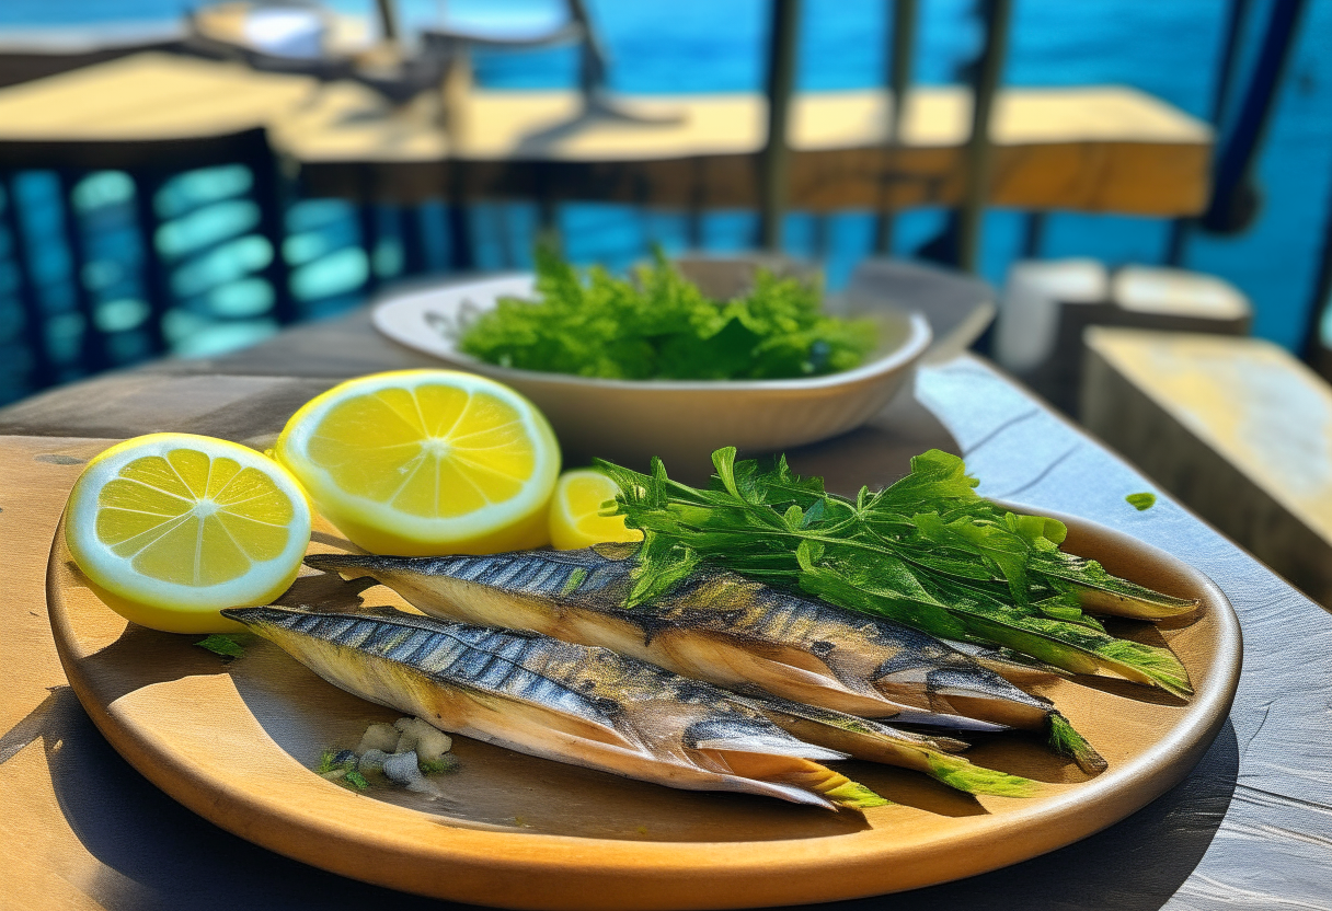
<instances>
[{"instance_id":1,"label":"frontmost grilled striped fish, nearest the plate's front edge","mask_svg":"<svg viewBox=\"0 0 1332 911\"><path fill-rule=\"evenodd\" d=\"M529 755L670 787L739 791L830 810L882 798L707 683L534 633L392 609L224 614L354 695Z\"/></svg>"}]
</instances>

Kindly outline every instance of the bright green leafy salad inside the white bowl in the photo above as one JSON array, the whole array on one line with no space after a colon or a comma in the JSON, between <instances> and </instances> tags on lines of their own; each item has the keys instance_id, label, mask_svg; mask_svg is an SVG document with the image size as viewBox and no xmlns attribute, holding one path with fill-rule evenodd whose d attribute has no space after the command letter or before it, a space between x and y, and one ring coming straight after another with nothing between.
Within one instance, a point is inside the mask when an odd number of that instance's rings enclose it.
<instances>
[{"instance_id":1,"label":"bright green leafy salad inside the white bowl","mask_svg":"<svg viewBox=\"0 0 1332 911\"><path fill-rule=\"evenodd\" d=\"M611 380L775 380L858 366L871 321L826 316L822 289L759 272L745 297L718 302L665 254L615 278L586 274L538 246L537 302L503 298L468 326L460 349L490 364Z\"/></svg>"}]
</instances>

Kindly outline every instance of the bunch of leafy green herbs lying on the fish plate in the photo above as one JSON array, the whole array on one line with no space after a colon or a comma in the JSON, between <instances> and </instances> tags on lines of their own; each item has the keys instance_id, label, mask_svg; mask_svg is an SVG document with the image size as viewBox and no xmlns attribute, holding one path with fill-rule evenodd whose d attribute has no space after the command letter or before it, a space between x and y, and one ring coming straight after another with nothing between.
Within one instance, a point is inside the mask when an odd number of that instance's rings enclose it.
<instances>
[{"instance_id":1,"label":"bunch of leafy green herbs lying on the fish plate","mask_svg":"<svg viewBox=\"0 0 1332 911\"><path fill-rule=\"evenodd\" d=\"M1075 674L1111 674L1187 695L1188 674L1168 650L1120 639L1083 613L1196 602L1119 579L1059 549L1067 527L1020 515L976 494L960 458L930 450L896 483L855 499L830 494L781 458L765 469L713 453L707 490L671 481L661 459L641 474L598 466L619 486L617 513L642 529L629 605L673 587L699 562L799 589L834 605L880 614L946 639L1012 649Z\"/></svg>"}]
</instances>

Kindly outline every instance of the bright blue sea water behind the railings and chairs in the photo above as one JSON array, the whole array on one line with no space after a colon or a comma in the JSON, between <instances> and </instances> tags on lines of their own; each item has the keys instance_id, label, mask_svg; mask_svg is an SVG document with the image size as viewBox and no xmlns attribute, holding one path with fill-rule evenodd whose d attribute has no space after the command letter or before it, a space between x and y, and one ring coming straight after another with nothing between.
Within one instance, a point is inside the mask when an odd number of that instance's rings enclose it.
<instances>
[{"instance_id":1,"label":"bright blue sea water behind the railings and chairs","mask_svg":"<svg viewBox=\"0 0 1332 911\"><path fill-rule=\"evenodd\" d=\"M194 5L181 0L5 0L0 3L0 32L40 25L131 23L170 19ZM370 0L333 0L341 12L373 15ZM558 0L400 0L409 28L446 13L454 20L506 20L539 28L558 16ZM757 91L765 72L767 0L591 0L593 19L611 55L610 79L623 92ZM1228 4L1223 0L1016 0L1004 81L1011 85L1127 84L1155 95L1195 116L1207 117L1217 76ZM1271 0L1251 4L1240 71L1243 89L1265 24ZM888 47L886 0L805 0L802 4L798 84L805 91L846 89L883 81ZM958 69L975 56L982 32L972 0L922 0L914 79L923 84L956 81ZM575 56L570 49L525 53L485 52L477 59L478 83L492 88L571 85ZM1237 99L1241 92L1236 91ZM1233 105L1232 105L1233 107ZM1223 124L1224 132L1224 124ZM1271 128L1257 165L1263 209L1243 234L1213 237L1193 233L1184 265L1235 282L1253 301L1255 333L1296 346L1315 306L1313 281L1319 248L1332 212L1332 0L1312 0L1287 79L1276 100ZM244 180L234 172L226 177ZM115 200L113 178L88 190ZM44 192L41 174L16 192L33 205ZM205 184L208 181L204 181ZM104 181L105 182L105 181ZM196 181L198 182L198 181ZM188 181L186 181L188 184ZM123 189L123 188L121 188ZM204 250L173 273L180 309L168 336L177 350L204 353L273 330L266 316L272 290L250 276L273 250L244 237L254 213L228 194L210 197L208 186L177 186L182 225L168 246L182 257ZM194 193L194 196L192 196ZM201 194L200 194L201 193ZM159 200L161 205L161 200ZM220 208L221 206L221 208ZM111 206L108 224L117 228ZM206 217L197 214L206 213ZM194 213L190 216L190 213ZM438 232L440 220L426 209L424 224ZM189 218L194 221L190 222ZM611 266L638 258L651 242L667 249L685 245L682 213L642 212L630 206L569 205L561 213L566 249L581 261ZM904 213L895 246L908 253L932 237L944 213L922 209ZM40 218L28 217L28 230L41 236ZM234 240L206 237L229 225ZM530 206L489 205L473 213L478 257L484 266L522 264L535 225ZM1026 216L995 209L986 218L982 272L1002 282L1019 256ZM48 225L45 229L57 230ZM292 212L285 256L293 265L293 286L306 312L320 314L358 300L368 272L392 276L401 250L392 244L368 258L357 245L358 229L349 206L336 201L305 201ZM749 212L711 213L703 224L706 245L742 248L753 242L755 217ZM1159 218L1051 213L1042 254L1091 256L1108 264L1160 262L1169 225ZM93 232L96 233L96 232ZM202 236L201 236L202 234ZM815 252L825 237L831 285L844 281L854 264L870 252L872 216L846 212L826 220L793 213L786 244L794 252ZM31 244L29 238L29 245ZM105 238L103 238L105 240ZM163 246L159 238L159 248ZM440 240L436 237L436 240ZM437 244L436 246L442 246ZM59 285L55 257L44 268ZM103 296L109 322L133 318L133 290L116 290L115 268L100 280L112 289ZM117 273L119 274L119 273ZM95 276L96 277L96 276ZM87 281L88 276L85 276ZM128 288L128 286L127 286ZM3 290L0 290L3 294ZM109 297L108 297L109 294ZM117 297L119 294L119 297ZM68 290L64 294L68 297ZM60 309L55 293L53 310ZM99 322L101 321L99 310ZM120 314L117 317L117 313ZM0 320L0 333L5 321ZM229 333L229 334L228 334ZM125 342L129 344L129 342ZM132 357L132 352L128 352ZM4 378L0 377L0 384Z\"/></svg>"}]
</instances>

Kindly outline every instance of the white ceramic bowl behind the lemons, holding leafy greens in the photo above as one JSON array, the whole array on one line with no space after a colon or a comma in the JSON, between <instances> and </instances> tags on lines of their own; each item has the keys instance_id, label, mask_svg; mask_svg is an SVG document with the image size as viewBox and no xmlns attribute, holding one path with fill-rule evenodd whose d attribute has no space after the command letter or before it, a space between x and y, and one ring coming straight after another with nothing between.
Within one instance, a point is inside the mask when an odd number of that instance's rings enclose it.
<instances>
[{"instance_id":1,"label":"white ceramic bowl behind the lemons, holding leafy greens","mask_svg":"<svg viewBox=\"0 0 1332 911\"><path fill-rule=\"evenodd\" d=\"M930 345L924 317L883 310L866 314L880 328L862 366L798 380L595 380L501 368L457 350L461 328L497 298L531 296L530 274L505 276L390 297L373 318L389 338L525 394L570 462L599 456L642 469L661 456L667 469L687 469L710 465L722 446L759 453L835 437L887 405Z\"/></svg>"}]
</instances>

